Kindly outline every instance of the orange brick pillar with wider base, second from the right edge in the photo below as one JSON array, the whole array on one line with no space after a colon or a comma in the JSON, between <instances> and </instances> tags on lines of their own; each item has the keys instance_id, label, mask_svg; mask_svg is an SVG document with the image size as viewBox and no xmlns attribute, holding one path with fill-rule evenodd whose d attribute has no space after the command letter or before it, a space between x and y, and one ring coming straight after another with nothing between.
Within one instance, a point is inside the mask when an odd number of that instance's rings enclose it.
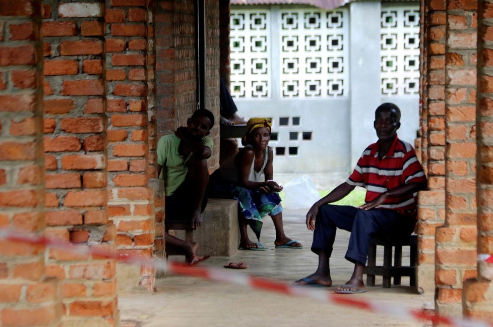
<instances>
[{"instance_id":1,"label":"orange brick pillar with wider base, second from the right edge","mask_svg":"<svg viewBox=\"0 0 493 327\"><path fill-rule=\"evenodd\" d=\"M435 308L457 317L463 281L476 276L476 9L475 1L447 2L446 214L437 229Z\"/></svg>"}]
</instances>

